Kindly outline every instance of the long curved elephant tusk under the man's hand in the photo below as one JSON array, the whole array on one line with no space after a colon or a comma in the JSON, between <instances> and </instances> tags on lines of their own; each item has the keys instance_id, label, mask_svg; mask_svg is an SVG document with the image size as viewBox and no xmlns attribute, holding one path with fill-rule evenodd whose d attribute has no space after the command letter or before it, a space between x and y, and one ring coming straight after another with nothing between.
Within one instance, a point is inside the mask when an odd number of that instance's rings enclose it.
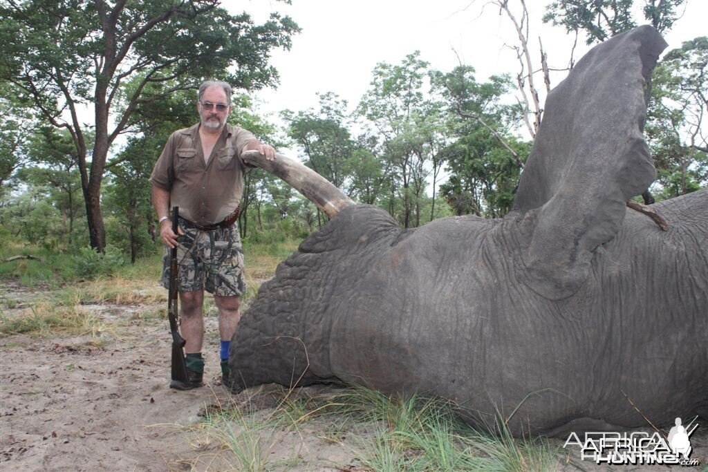
<instances>
[{"instance_id":1,"label":"long curved elephant tusk under the man's hand","mask_svg":"<svg viewBox=\"0 0 708 472\"><path fill-rule=\"evenodd\" d=\"M285 182L307 200L314 203L329 218L334 218L346 207L356 205L329 180L306 167L302 162L283 154L276 154L273 161L265 159L258 151L244 151L244 162L265 169Z\"/></svg>"}]
</instances>

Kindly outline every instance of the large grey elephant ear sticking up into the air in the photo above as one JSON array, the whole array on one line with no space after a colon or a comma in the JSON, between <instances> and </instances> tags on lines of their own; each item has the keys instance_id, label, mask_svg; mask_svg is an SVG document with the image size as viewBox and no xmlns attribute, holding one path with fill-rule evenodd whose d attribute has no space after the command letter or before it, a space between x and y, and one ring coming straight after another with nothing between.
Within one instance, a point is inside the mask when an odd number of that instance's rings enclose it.
<instances>
[{"instance_id":1,"label":"large grey elephant ear sticking up into the air","mask_svg":"<svg viewBox=\"0 0 708 472\"><path fill-rule=\"evenodd\" d=\"M543 297L581 287L627 200L656 176L644 84L666 46L651 26L629 30L593 47L549 93L513 206L523 216L517 275Z\"/></svg>"}]
</instances>

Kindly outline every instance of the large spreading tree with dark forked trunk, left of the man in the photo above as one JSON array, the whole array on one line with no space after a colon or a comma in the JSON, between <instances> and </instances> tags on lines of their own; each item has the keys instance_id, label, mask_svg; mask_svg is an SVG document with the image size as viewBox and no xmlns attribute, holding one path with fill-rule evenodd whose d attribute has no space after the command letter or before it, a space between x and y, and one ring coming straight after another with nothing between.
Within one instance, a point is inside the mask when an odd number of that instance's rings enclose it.
<instances>
[{"instance_id":1,"label":"large spreading tree with dark forked trunk, left of the man","mask_svg":"<svg viewBox=\"0 0 708 472\"><path fill-rule=\"evenodd\" d=\"M193 89L204 77L246 89L271 86L270 51L298 28L273 13L255 25L218 0L6 0L0 4L0 77L67 129L76 148L91 246L105 246L101 183L110 146L132 130L139 107ZM232 67L232 66L236 67ZM131 87L123 87L132 82ZM154 84L154 93L144 93ZM91 109L92 123L85 115ZM109 129L111 125L111 129ZM86 131L95 139L89 149Z\"/></svg>"}]
</instances>

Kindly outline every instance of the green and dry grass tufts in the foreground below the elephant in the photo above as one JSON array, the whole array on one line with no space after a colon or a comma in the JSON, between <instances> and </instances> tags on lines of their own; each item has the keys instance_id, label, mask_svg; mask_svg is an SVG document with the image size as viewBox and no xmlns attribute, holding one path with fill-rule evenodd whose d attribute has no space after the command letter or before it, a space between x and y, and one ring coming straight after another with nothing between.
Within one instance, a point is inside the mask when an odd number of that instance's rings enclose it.
<instances>
[{"instance_id":1,"label":"green and dry grass tufts in the foreground below the elephant","mask_svg":"<svg viewBox=\"0 0 708 472\"><path fill-rule=\"evenodd\" d=\"M212 464L236 461L236 470L288 470L270 457L280 439L290 434L291 443L292 437L299 437L303 444L337 444L359 464L358 471L525 472L556 466L558 451L547 440L512 437L503 422L474 430L457 418L449 402L386 396L362 387L312 396L284 389L280 395L273 408L249 413L249 402L234 404L236 410L215 413L202 423L204 434L217 440L225 454ZM307 428L315 419L317 427ZM323 466L301 460L305 470Z\"/></svg>"}]
</instances>

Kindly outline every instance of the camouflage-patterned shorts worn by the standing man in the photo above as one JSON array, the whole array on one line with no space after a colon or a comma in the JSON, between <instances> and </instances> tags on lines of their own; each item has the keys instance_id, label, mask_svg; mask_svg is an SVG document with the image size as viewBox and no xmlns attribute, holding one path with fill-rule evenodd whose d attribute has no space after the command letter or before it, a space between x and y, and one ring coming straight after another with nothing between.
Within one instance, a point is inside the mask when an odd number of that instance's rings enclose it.
<instances>
[{"instance_id":1,"label":"camouflage-patterned shorts worn by the standing man","mask_svg":"<svg viewBox=\"0 0 708 472\"><path fill-rule=\"evenodd\" d=\"M177 290L205 289L210 294L231 297L246 293L244 250L239 226L200 231L179 219L183 235L178 238L179 263ZM162 285L169 289L171 249L165 248Z\"/></svg>"}]
</instances>

